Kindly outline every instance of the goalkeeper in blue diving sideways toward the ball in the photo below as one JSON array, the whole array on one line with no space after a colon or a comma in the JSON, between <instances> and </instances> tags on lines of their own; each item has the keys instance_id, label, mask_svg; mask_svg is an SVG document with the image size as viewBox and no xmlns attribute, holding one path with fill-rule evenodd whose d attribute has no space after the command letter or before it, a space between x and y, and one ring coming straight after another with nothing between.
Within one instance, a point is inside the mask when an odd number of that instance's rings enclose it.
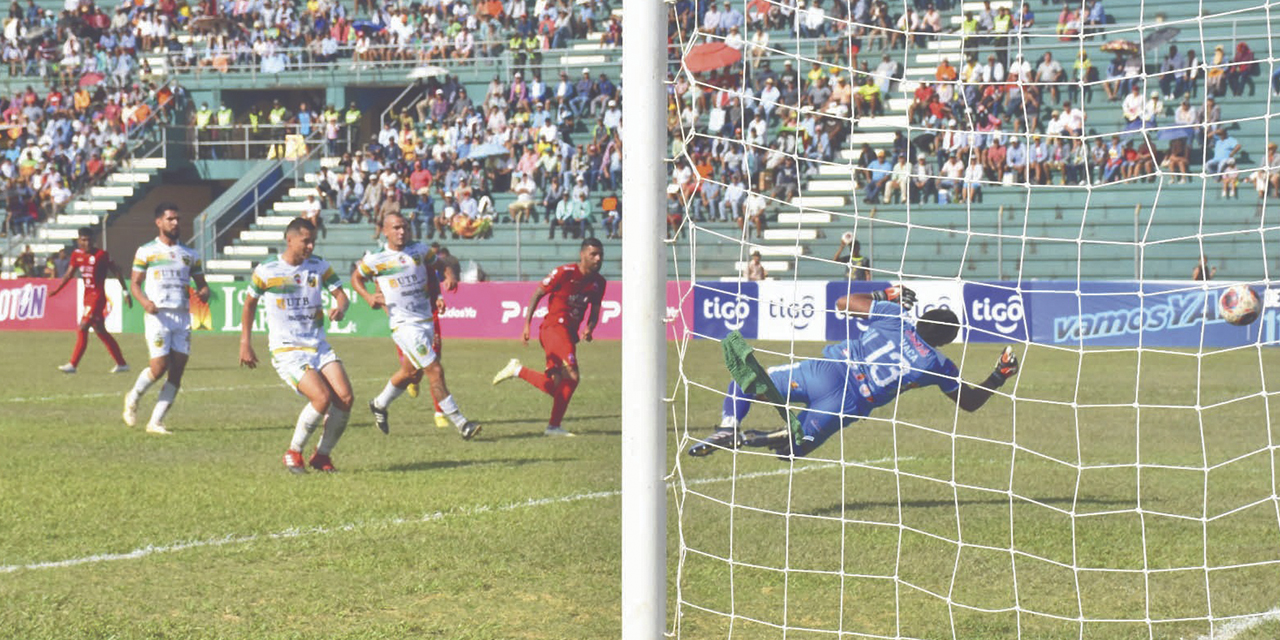
<instances>
[{"instance_id":1,"label":"goalkeeper in blue diving sideways toward the ball","mask_svg":"<svg viewBox=\"0 0 1280 640\"><path fill-rule=\"evenodd\" d=\"M960 370L940 347L955 340L960 320L950 308L932 308L913 323L906 310L915 292L890 287L852 293L836 301L836 310L865 319L867 329L828 344L822 358L774 366L756 362L751 348L736 332L723 342L724 361L733 380L724 398L719 429L689 449L690 456L710 456L717 449L763 447L778 456L801 457L841 429L893 402L899 393L937 387L965 411L978 411L992 392L1018 372L1018 357L1005 348L996 369L982 384L960 380ZM742 430L742 420L762 399L777 406L786 426L769 431ZM792 415L786 404L805 408Z\"/></svg>"}]
</instances>

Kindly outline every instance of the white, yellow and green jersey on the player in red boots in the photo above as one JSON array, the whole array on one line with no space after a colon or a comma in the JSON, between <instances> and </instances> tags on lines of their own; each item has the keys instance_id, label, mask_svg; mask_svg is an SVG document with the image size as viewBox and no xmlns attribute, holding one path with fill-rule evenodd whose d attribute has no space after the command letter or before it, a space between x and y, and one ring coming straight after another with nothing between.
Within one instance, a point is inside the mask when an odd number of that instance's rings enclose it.
<instances>
[{"instance_id":1,"label":"white, yellow and green jersey on the player in red boots","mask_svg":"<svg viewBox=\"0 0 1280 640\"><path fill-rule=\"evenodd\" d=\"M253 269L248 294L261 298L271 353L315 349L325 342L325 291L342 288L329 262L311 256L301 265L273 257Z\"/></svg>"}]
</instances>

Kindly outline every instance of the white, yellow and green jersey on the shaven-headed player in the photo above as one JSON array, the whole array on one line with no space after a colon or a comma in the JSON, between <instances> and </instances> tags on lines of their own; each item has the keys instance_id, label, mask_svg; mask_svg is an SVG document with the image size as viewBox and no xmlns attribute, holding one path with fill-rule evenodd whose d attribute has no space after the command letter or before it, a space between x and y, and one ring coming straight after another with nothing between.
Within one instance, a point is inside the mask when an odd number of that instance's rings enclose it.
<instances>
[{"instance_id":1,"label":"white, yellow and green jersey on the shaven-headed player","mask_svg":"<svg viewBox=\"0 0 1280 640\"><path fill-rule=\"evenodd\" d=\"M430 323L431 300L426 294L426 270L435 266L435 250L421 242L401 251L383 250L360 259L360 275L372 278L387 301L390 328Z\"/></svg>"}]
</instances>

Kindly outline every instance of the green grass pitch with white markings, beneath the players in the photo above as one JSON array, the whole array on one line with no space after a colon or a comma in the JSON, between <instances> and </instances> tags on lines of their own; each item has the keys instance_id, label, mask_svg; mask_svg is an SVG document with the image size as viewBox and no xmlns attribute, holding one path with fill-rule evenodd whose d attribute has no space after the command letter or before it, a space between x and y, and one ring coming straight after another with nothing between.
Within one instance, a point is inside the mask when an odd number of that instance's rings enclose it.
<instances>
[{"instance_id":1,"label":"green grass pitch with white markings, beneath the players","mask_svg":"<svg viewBox=\"0 0 1280 640\"><path fill-rule=\"evenodd\" d=\"M141 365L140 337L122 343ZM99 344L79 374L55 371L69 347L0 334L0 567L150 552L0 572L0 637L618 636L617 343L580 349L580 438L543 438L549 399L524 383L489 385L535 347L447 340L477 440L404 397L389 436L357 410L342 471L302 477L279 462L302 401L270 367L238 369L234 337L197 335L172 438L120 424L133 376L102 372ZM334 348L362 407L392 344ZM946 351L982 379L997 347ZM1016 401L957 415L916 390L794 466L677 456L717 421L726 378L714 343L689 344L687 384L675 347L669 361L681 637L1196 639L1211 614L1280 605L1272 351L1144 352L1139 376L1132 352L1036 348Z\"/></svg>"}]
</instances>

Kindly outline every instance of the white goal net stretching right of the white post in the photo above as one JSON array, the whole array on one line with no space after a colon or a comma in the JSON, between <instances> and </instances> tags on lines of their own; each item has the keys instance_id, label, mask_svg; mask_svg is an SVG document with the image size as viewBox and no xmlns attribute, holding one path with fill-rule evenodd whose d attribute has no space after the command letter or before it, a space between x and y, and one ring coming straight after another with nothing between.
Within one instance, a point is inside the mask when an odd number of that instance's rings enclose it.
<instances>
[{"instance_id":1,"label":"white goal net stretching right of the white post","mask_svg":"<svg viewBox=\"0 0 1280 640\"><path fill-rule=\"evenodd\" d=\"M1280 635L1277 6L668 9L673 635ZM686 454L718 340L823 358L867 328L840 297L900 283L960 319L961 380L1021 371L974 412L896 388L795 460ZM1222 320L1234 283L1260 320Z\"/></svg>"}]
</instances>

